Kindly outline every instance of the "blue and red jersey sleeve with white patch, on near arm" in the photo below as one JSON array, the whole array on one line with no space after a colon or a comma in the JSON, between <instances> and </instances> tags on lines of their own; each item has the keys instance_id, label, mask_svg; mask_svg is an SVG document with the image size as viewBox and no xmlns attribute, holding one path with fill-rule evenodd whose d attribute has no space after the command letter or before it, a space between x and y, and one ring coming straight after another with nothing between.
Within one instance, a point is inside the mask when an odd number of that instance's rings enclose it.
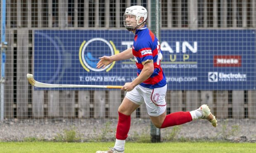
<instances>
[{"instance_id":1,"label":"blue and red jersey sleeve with white patch, on near arm","mask_svg":"<svg viewBox=\"0 0 256 153\"><path fill-rule=\"evenodd\" d=\"M144 65L147 62L153 63L152 42L150 41L141 42L138 45L138 52L140 55L140 60L142 65Z\"/></svg>"}]
</instances>

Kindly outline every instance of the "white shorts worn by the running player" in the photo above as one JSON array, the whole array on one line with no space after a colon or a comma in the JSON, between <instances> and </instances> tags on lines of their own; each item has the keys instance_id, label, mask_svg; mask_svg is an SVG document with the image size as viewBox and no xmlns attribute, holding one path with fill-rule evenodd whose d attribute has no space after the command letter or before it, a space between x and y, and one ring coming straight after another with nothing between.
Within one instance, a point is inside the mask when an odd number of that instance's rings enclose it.
<instances>
[{"instance_id":1,"label":"white shorts worn by the running player","mask_svg":"<svg viewBox=\"0 0 256 153\"><path fill-rule=\"evenodd\" d=\"M159 116L166 111L165 95L167 84L161 88L149 89L140 85L126 93L126 98L135 104L146 104L149 116Z\"/></svg>"}]
</instances>

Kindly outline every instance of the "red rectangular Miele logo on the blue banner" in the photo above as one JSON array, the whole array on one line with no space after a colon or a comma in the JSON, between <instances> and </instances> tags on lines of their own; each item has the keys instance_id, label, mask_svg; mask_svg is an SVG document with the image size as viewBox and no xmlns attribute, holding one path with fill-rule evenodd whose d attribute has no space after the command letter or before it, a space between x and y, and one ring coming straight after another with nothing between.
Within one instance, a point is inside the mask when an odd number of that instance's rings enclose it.
<instances>
[{"instance_id":1,"label":"red rectangular Miele logo on the blue banner","mask_svg":"<svg viewBox=\"0 0 256 153\"><path fill-rule=\"evenodd\" d=\"M240 67L242 65L242 57L235 55L213 56L214 67Z\"/></svg>"}]
</instances>

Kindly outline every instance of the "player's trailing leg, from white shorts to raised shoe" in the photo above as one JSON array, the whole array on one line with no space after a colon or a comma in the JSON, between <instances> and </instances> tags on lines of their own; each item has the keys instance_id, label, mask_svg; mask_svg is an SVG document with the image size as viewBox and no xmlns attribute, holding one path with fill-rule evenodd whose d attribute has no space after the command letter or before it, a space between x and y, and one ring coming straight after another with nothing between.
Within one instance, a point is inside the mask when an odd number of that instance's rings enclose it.
<instances>
[{"instance_id":1,"label":"player's trailing leg, from white shorts to raised shoe","mask_svg":"<svg viewBox=\"0 0 256 153\"><path fill-rule=\"evenodd\" d=\"M145 92L145 102L147 106L148 114L152 120L152 123L158 128L165 128L174 125L181 125L190 122L197 118L207 119L212 123L214 127L217 126L215 116L211 114L211 111L207 105L202 105L199 109L194 111L178 111L166 115L166 102L165 93L167 87L155 88L152 93Z\"/></svg>"}]
</instances>

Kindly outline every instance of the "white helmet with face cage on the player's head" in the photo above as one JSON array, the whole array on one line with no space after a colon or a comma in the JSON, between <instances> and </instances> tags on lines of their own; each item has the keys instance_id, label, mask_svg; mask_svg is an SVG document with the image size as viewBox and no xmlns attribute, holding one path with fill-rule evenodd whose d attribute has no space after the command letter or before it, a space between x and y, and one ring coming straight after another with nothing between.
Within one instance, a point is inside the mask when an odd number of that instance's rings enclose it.
<instances>
[{"instance_id":1,"label":"white helmet with face cage on the player's head","mask_svg":"<svg viewBox=\"0 0 256 153\"><path fill-rule=\"evenodd\" d=\"M130 23L126 21L126 17L130 16L135 16L135 19L137 23ZM144 17L143 22L139 23L140 17ZM131 6L126 8L126 12L123 14L123 25L126 27L128 31L135 30L138 26L142 25L143 23L145 24L147 20L147 9L142 6Z\"/></svg>"}]
</instances>

